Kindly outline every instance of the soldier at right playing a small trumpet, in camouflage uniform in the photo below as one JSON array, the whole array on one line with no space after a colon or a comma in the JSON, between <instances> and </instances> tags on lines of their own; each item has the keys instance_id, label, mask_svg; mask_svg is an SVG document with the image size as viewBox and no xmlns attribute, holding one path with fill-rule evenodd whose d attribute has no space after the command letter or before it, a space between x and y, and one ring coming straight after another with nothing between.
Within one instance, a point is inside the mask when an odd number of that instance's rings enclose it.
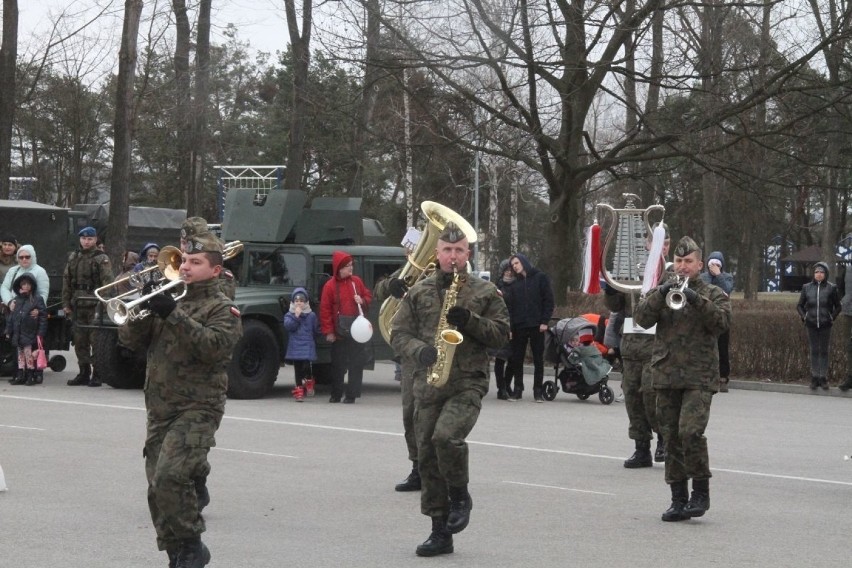
<instances>
[{"instance_id":1,"label":"soldier at right playing a small trumpet, in camouflage uniform","mask_svg":"<svg viewBox=\"0 0 852 568\"><path fill-rule=\"evenodd\" d=\"M672 492L664 521L700 517L710 508L710 458L704 430L713 394L719 390L717 340L731 326L731 300L721 288L699 278L702 258L691 238L678 241L674 270L678 277L689 278L683 290L685 305L678 310L668 307L666 295L676 285L668 281L640 300L633 314L642 327L657 326L651 371L657 421L666 443L666 483ZM689 479L692 495L687 501Z\"/></svg>"}]
</instances>

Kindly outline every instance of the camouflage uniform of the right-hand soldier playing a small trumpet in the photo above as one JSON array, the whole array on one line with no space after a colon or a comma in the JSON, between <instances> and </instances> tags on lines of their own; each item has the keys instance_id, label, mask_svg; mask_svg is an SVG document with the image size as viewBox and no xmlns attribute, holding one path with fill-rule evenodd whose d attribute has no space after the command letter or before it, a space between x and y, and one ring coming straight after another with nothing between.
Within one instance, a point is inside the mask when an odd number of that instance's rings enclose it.
<instances>
[{"instance_id":1,"label":"camouflage uniform of the right-hand soldier playing a small trumpet","mask_svg":"<svg viewBox=\"0 0 852 568\"><path fill-rule=\"evenodd\" d=\"M700 296L695 305L672 310L655 288L634 310L642 327L657 325L651 371L669 484L711 477L704 430L719 390L717 338L731 325L731 301L721 288L698 278L689 288Z\"/></svg>"}]
</instances>

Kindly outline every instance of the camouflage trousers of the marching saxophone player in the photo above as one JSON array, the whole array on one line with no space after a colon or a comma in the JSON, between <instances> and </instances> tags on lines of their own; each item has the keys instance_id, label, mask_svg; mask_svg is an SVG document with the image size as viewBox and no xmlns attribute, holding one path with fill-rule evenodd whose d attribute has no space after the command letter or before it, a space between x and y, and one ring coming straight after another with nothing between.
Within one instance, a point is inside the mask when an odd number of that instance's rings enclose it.
<instances>
[{"instance_id":1,"label":"camouflage trousers of the marching saxophone player","mask_svg":"<svg viewBox=\"0 0 852 568\"><path fill-rule=\"evenodd\" d=\"M424 515L447 515L448 488L467 485L468 447L465 438L476 425L481 409L482 393L472 388L459 390L440 400L417 401L414 431L422 484L420 511Z\"/></svg>"}]
</instances>

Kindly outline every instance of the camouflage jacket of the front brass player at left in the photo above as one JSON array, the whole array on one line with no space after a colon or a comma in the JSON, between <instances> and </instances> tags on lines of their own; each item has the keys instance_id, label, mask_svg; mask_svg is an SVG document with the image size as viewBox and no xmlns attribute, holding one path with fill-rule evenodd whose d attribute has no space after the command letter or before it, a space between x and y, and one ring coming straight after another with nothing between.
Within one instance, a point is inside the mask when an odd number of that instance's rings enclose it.
<instances>
[{"instance_id":1,"label":"camouflage jacket of the front brass player at left","mask_svg":"<svg viewBox=\"0 0 852 568\"><path fill-rule=\"evenodd\" d=\"M152 314L119 327L122 345L148 350L149 419L196 408L224 411L226 367L241 336L239 311L219 291L217 279L190 284L166 319Z\"/></svg>"}]
</instances>

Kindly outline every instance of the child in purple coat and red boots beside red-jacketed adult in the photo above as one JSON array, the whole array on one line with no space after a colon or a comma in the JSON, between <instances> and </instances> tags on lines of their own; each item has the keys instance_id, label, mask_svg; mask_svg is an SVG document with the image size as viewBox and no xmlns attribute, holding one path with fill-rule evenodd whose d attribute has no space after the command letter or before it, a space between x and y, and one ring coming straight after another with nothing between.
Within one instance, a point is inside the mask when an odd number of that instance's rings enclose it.
<instances>
[{"instance_id":1,"label":"child in purple coat and red boots beside red-jacketed adult","mask_svg":"<svg viewBox=\"0 0 852 568\"><path fill-rule=\"evenodd\" d=\"M284 329L289 334L285 358L293 364L293 370L296 372L293 398L302 402L306 395L314 395L316 381L310 371L311 361L317 359L316 338L320 335L319 318L311 311L308 292L304 288L293 290L290 311L284 314Z\"/></svg>"}]
</instances>

